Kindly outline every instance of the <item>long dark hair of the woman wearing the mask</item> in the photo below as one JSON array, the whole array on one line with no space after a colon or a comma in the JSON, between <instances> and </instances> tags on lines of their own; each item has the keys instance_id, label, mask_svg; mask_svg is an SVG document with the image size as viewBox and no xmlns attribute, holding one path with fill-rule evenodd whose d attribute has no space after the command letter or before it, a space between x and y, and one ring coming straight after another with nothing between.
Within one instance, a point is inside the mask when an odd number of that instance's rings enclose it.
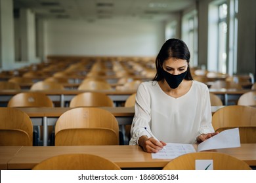
<instances>
[{"instance_id":1,"label":"long dark hair of the woman wearing the mask","mask_svg":"<svg viewBox=\"0 0 256 183\"><path fill-rule=\"evenodd\" d=\"M186 59L186 62L188 63L188 73L184 79L193 80L189 67L190 52L188 50L188 46L186 46L185 42L179 39L168 39L161 47L161 50L156 57L156 76L153 80L163 80L163 75L161 74L163 61L169 58Z\"/></svg>"}]
</instances>

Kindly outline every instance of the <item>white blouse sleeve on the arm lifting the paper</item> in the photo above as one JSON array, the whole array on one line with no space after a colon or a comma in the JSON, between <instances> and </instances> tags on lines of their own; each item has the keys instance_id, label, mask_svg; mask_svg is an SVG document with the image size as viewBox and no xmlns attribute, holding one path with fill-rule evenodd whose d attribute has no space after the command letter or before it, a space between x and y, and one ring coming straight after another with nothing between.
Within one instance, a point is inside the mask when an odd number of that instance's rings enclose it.
<instances>
[{"instance_id":1,"label":"white blouse sleeve on the arm lifting the paper","mask_svg":"<svg viewBox=\"0 0 256 183\"><path fill-rule=\"evenodd\" d=\"M203 100L202 100L202 120L200 122L200 129L199 134L202 133L213 133L213 125L211 124L211 101L210 101L210 95L209 95L209 89L207 86L205 86L203 90ZM197 137L198 137L197 135ZM195 137L196 142L196 137Z\"/></svg>"}]
</instances>

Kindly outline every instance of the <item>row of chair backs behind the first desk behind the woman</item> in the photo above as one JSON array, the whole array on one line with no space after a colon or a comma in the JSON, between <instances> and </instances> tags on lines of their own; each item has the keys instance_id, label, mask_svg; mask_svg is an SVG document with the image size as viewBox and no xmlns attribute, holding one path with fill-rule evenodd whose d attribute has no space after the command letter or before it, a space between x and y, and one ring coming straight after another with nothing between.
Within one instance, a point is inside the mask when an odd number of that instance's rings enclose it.
<instances>
[{"instance_id":1,"label":"row of chair backs behind the first desk behind the woman","mask_svg":"<svg viewBox=\"0 0 256 183\"><path fill-rule=\"evenodd\" d=\"M135 105L135 93L131 95L125 104L125 107L129 105L132 107ZM210 101L212 106L221 106L223 101L210 93ZM256 91L246 92L238 99L238 105L256 105ZM9 103L8 107L53 107L54 104L44 93L38 92L21 92L14 95ZM75 95L70 101L69 107L114 107L114 102L108 95L98 92L84 92Z\"/></svg>"}]
</instances>

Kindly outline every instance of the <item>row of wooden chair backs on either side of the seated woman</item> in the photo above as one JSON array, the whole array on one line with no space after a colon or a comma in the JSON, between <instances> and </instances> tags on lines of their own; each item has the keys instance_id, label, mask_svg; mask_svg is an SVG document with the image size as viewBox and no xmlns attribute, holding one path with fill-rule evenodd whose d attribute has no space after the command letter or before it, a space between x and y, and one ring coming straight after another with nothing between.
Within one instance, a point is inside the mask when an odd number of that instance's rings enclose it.
<instances>
[{"instance_id":1,"label":"row of wooden chair backs on either side of the seated woman","mask_svg":"<svg viewBox=\"0 0 256 183\"><path fill-rule=\"evenodd\" d=\"M0 108L0 145L32 146L30 117L18 108ZM215 131L239 127L240 142L256 143L256 108L232 105L213 114ZM25 139L24 139L25 138ZM102 108L79 107L64 112L55 125L55 145L119 144L114 115Z\"/></svg>"}]
</instances>

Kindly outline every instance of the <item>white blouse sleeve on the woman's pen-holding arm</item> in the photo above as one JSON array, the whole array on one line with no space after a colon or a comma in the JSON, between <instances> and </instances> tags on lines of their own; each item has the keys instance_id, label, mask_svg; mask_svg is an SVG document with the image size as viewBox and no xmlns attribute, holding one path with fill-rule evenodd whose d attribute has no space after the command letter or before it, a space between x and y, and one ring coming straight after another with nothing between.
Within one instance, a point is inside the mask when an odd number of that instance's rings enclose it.
<instances>
[{"instance_id":1,"label":"white blouse sleeve on the woman's pen-holding arm","mask_svg":"<svg viewBox=\"0 0 256 183\"><path fill-rule=\"evenodd\" d=\"M138 144L138 140L142 135L147 135L150 137L150 134L145 130L150 129L151 122L151 108L150 108L150 93L148 92L145 84L140 84L135 103L135 116L133 118L133 123L131 125L131 140L130 145Z\"/></svg>"}]
</instances>

